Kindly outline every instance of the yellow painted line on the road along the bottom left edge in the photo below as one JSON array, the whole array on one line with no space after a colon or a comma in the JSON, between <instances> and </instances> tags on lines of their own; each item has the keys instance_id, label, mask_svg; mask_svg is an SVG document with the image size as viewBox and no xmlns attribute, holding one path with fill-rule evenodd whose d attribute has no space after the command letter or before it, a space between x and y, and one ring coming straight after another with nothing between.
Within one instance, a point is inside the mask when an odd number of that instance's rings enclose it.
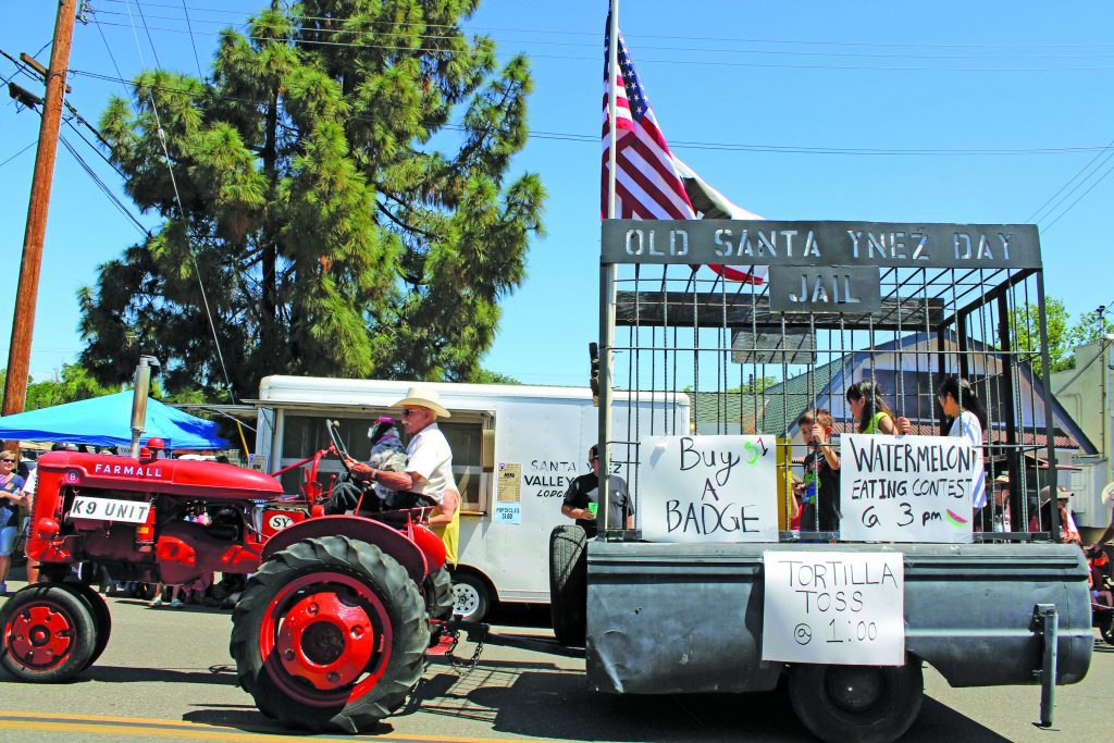
<instances>
[{"instance_id":1,"label":"yellow painted line on the road along the bottom left edge","mask_svg":"<svg viewBox=\"0 0 1114 743\"><path fill-rule=\"evenodd\" d=\"M35 717L37 720L26 720ZM40 722L50 720L53 722ZM0 730L42 731L59 733L96 733L104 735L133 735L145 737L228 741L231 743L268 741L268 743L304 743L305 735L276 735L276 729L244 732L222 729L205 723L157 717L115 717L109 715L66 715L47 712L0 712ZM351 739L310 739L323 743L341 743ZM459 735L377 735L378 741L416 741L419 743L520 743L524 739L461 737Z\"/></svg>"}]
</instances>

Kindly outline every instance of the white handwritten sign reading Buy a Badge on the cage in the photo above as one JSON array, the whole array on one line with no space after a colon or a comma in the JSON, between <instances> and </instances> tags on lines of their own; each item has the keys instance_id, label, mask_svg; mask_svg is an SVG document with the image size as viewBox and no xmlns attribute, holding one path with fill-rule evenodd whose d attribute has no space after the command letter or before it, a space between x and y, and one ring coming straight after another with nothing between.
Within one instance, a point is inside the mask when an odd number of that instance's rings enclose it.
<instances>
[{"instance_id":1,"label":"white handwritten sign reading Buy a Badge on the cage","mask_svg":"<svg viewBox=\"0 0 1114 743\"><path fill-rule=\"evenodd\" d=\"M643 439L638 524L649 541L776 541L774 438Z\"/></svg>"}]
</instances>

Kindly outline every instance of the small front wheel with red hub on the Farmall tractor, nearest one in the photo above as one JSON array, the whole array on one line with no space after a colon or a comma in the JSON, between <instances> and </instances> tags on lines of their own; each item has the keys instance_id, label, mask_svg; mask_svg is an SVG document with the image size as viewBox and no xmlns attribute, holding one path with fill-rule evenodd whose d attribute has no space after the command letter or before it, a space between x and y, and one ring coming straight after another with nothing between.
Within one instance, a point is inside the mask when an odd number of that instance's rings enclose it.
<instances>
[{"instance_id":1,"label":"small front wheel with red hub on the Farmall tractor, nearest one","mask_svg":"<svg viewBox=\"0 0 1114 743\"><path fill-rule=\"evenodd\" d=\"M0 665L20 681L66 681L89 665L96 647L92 612L58 584L16 592L0 607Z\"/></svg>"}]
</instances>

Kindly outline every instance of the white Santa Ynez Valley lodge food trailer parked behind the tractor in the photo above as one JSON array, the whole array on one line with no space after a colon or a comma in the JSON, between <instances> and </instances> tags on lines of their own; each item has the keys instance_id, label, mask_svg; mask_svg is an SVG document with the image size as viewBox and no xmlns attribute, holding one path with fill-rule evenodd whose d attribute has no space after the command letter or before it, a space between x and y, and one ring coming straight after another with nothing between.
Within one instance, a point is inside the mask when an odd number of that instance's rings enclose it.
<instances>
[{"instance_id":1,"label":"white Santa Ynez Valley lodge food trailer parked behind the tractor","mask_svg":"<svg viewBox=\"0 0 1114 743\"><path fill-rule=\"evenodd\" d=\"M257 456L276 470L328 444L324 421L340 422L353 457L369 453L368 429L411 382L307 377L267 377L260 383ZM433 383L451 418L438 421L452 447L453 473L462 495L459 566L453 576L457 612L482 619L495 602L549 603L550 530L569 483L590 471L587 450L596 443L599 409L587 388ZM683 393L616 392L617 439L690 431ZM628 431L628 427L637 430ZM628 482L622 446L612 446L613 471ZM322 462L328 480L336 460ZM286 476L287 492L302 475ZM637 525L636 525L637 526Z\"/></svg>"}]
</instances>

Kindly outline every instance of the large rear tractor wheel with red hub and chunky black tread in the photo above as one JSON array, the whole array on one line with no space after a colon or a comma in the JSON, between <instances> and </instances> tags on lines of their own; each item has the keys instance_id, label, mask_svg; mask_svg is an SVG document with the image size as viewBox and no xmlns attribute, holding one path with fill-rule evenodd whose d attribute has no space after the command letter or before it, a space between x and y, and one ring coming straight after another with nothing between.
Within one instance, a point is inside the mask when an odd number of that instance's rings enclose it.
<instances>
[{"instance_id":1,"label":"large rear tractor wheel with red hub and chunky black tread","mask_svg":"<svg viewBox=\"0 0 1114 743\"><path fill-rule=\"evenodd\" d=\"M426 607L405 569L348 537L295 542L247 581L232 615L240 685L283 725L359 733L421 678Z\"/></svg>"}]
</instances>

